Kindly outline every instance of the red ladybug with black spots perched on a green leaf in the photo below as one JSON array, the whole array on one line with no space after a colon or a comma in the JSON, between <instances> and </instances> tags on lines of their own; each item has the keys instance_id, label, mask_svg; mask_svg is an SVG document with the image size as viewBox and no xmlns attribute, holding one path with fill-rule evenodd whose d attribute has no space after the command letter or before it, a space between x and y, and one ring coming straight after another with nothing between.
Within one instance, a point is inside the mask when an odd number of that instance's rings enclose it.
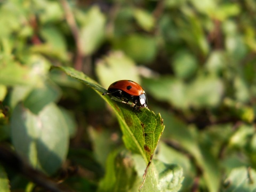
<instances>
[{"instance_id":1,"label":"red ladybug with black spots perched on a green leaf","mask_svg":"<svg viewBox=\"0 0 256 192\"><path fill-rule=\"evenodd\" d=\"M142 87L130 80L120 80L112 83L108 87L108 91L102 95L111 94L114 97L125 101L126 103L133 102L134 109L148 107L148 99Z\"/></svg>"}]
</instances>

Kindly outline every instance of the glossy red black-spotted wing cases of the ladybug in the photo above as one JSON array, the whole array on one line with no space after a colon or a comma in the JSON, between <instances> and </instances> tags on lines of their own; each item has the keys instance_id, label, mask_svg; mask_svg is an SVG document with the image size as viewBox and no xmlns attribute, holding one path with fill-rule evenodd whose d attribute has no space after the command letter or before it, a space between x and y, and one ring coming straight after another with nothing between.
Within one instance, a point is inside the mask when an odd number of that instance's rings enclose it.
<instances>
[{"instance_id":1,"label":"glossy red black-spotted wing cases of the ladybug","mask_svg":"<svg viewBox=\"0 0 256 192\"><path fill-rule=\"evenodd\" d=\"M113 89L122 90L134 96L139 96L145 93L145 91L142 89L142 87L138 83L135 83L131 80L120 80L120 81L114 82L111 85L109 85L108 91Z\"/></svg>"}]
</instances>

